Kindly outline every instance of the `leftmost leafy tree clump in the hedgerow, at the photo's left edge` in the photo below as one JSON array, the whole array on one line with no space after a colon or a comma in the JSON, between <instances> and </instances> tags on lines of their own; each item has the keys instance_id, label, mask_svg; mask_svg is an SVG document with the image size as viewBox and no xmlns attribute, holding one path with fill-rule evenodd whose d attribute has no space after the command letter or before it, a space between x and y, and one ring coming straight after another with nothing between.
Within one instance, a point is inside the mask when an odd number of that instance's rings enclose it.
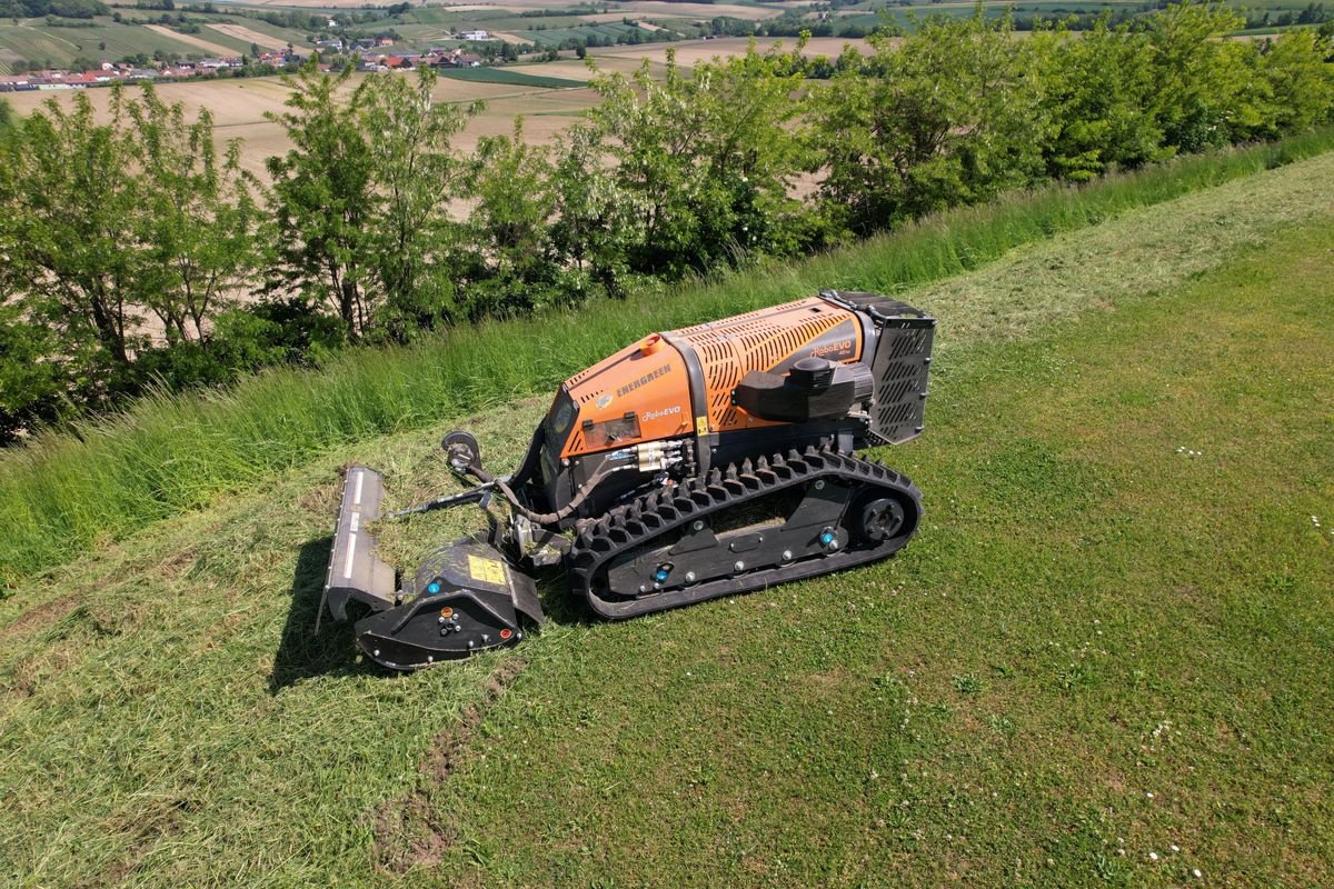
<instances>
[{"instance_id":1,"label":"leftmost leafy tree clump in the hedgerow, at the photo's left edge","mask_svg":"<svg viewBox=\"0 0 1334 889\"><path fill-rule=\"evenodd\" d=\"M187 124L152 88L127 99L115 87L108 123L84 95L69 111L48 101L4 152L0 281L25 348L40 344L43 379L63 388L11 415L49 419L57 403L101 409L136 393L151 368L136 360L156 351L149 319L203 361L213 316L259 264L237 147L217 159L208 113Z\"/></svg>"}]
</instances>

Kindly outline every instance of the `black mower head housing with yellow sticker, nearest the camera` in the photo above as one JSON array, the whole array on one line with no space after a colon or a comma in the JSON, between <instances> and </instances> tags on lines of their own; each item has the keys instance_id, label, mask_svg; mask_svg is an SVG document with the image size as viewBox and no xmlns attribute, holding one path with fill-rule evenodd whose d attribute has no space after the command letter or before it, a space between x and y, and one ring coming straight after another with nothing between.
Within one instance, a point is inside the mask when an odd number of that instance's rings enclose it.
<instances>
[{"instance_id":1,"label":"black mower head housing with yellow sticker, nearest the camera","mask_svg":"<svg viewBox=\"0 0 1334 889\"><path fill-rule=\"evenodd\" d=\"M542 622L532 578L488 542L462 540L435 550L398 608L356 624L356 641L378 664L416 670L523 640L520 618Z\"/></svg>"}]
</instances>

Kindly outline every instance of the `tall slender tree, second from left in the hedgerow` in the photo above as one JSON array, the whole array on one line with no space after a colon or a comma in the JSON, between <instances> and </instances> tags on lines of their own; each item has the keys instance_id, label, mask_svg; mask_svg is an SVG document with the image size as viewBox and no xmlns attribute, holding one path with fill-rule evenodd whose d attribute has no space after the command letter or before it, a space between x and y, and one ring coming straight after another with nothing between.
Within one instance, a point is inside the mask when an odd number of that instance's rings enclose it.
<instances>
[{"instance_id":1,"label":"tall slender tree, second from left in the hedgerow","mask_svg":"<svg viewBox=\"0 0 1334 889\"><path fill-rule=\"evenodd\" d=\"M367 77L344 99L352 68L313 65L287 77L291 111L271 115L293 148L271 157L279 268L271 289L297 288L328 304L348 340L394 340L452 316L447 200L456 161L450 139L468 111L431 99L435 73Z\"/></svg>"}]
</instances>

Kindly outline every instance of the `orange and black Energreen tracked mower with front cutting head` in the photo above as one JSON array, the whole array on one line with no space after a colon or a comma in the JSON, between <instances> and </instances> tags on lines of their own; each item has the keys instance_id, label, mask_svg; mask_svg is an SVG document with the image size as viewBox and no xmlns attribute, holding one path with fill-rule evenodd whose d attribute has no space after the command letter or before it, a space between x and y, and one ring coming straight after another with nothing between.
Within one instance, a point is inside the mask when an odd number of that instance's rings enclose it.
<instances>
[{"instance_id":1,"label":"orange and black Energreen tracked mower with front cutting head","mask_svg":"<svg viewBox=\"0 0 1334 889\"><path fill-rule=\"evenodd\" d=\"M922 493L856 450L923 429L935 320L874 293L822 291L651 333L566 380L512 476L466 432L450 468L475 485L384 512L384 480L351 466L324 596L375 661L410 670L514 645L540 622L535 576L564 570L619 620L868 565L899 552ZM431 553L395 584L375 521L492 498L486 538Z\"/></svg>"}]
</instances>

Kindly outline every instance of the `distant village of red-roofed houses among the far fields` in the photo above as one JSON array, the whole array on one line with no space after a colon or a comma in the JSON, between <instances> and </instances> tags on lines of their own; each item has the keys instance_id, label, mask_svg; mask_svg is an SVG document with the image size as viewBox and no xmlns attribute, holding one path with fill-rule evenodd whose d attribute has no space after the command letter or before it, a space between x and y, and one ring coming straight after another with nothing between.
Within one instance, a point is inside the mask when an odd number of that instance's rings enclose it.
<instances>
[{"instance_id":1,"label":"distant village of red-roofed houses among the far fields","mask_svg":"<svg viewBox=\"0 0 1334 889\"><path fill-rule=\"evenodd\" d=\"M460 35L463 40L487 40L486 31L470 31ZM315 44L315 51L321 57L350 55L358 57L358 71L412 71L415 68L478 68L482 65L482 56L467 52L462 47L432 48L423 53L386 55L378 49L394 45L388 37L362 37L344 44L340 39L320 40ZM293 51L264 52L253 59L252 64L268 68L292 68L309 59L309 55L300 55ZM127 63L103 61L100 69L72 72L72 71L35 71L25 75L11 75L0 77L0 92L27 92L32 89L81 89L85 87L104 87L112 83L127 81L176 81L192 77L233 76L245 67L241 56L228 56L220 59L199 59L193 61L164 63L161 67L141 67ZM321 71L329 71L339 65L320 63Z\"/></svg>"}]
</instances>

